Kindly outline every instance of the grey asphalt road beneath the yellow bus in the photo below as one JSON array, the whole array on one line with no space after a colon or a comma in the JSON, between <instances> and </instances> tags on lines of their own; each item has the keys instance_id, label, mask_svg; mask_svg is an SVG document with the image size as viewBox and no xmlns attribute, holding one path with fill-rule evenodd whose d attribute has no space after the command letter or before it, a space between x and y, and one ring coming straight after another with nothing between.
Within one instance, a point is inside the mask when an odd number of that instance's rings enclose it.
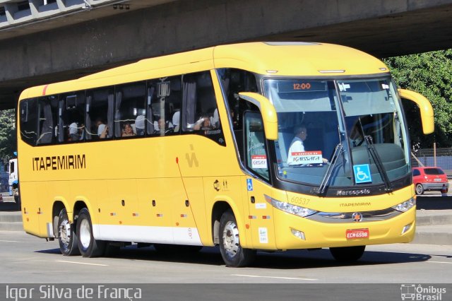
<instances>
[{"instance_id":1,"label":"grey asphalt road beneath the yellow bus","mask_svg":"<svg viewBox=\"0 0 452 301\"><path fill-rule=\"evenodd\" d=\"M122 248L114 257L62 256L58 243L0 231L2 283L452 283L452 246L369 246L356 264L328 249L258 253L248 268L229 268L217 248L161 254Z\"/></svg>"}]
</instances>

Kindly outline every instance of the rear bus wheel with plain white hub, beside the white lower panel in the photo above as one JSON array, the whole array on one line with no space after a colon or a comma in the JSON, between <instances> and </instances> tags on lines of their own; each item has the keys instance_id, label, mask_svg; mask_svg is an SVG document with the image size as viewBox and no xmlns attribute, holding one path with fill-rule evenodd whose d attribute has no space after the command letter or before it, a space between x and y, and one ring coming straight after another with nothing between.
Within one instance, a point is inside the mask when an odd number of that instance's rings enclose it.
<instances>
[{"instance_id":1,"label":"rear bus wheel with plain white hub, beside the white lower panel","mask_svg":"<svg viewBox=\"0 0 452 301\"><path fill-rule=\"evenodd\" d=\"M77 220L78 249L83 257L102 256L105 252L106 243L95 240L93 236L93 223L87 208L78 213Z\"/></svg>"}]
</instances>

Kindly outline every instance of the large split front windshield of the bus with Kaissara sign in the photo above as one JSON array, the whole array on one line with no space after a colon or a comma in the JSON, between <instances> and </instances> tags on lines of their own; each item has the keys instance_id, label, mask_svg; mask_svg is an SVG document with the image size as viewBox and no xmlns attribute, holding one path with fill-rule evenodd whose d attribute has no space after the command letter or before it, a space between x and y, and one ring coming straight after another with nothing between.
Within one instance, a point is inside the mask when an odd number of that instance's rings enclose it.
<instances>
[{"instance_id":1,"label":"large split front windshield of the bus with Kaissara sign","mask_svg":"<svg viewBox=\"0 0 452 301\"><path fill-rule=\"evenodd\" d=\"M269 78L264 88L278 113L280 179L391 189L391 181L410 172L407 133L391 78Z\"/></svg>"}]
</instances>

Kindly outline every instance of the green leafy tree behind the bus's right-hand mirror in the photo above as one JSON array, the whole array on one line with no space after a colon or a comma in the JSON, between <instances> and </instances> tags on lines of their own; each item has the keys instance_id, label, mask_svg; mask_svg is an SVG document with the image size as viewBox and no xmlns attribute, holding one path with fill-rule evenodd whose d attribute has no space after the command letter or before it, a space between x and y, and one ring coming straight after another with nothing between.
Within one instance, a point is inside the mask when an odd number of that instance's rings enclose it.
<instances>
[{"instance_id":1,"label":"green leafy tree behind the bus's right-hand mirror","mask_svg":"<svg viewBox=\"0 0 452 301\"><path fill-rule=\"evenodd\" d=\"M452 49L383 59L400 88L421 93L432 103L435 132L424 136L420 114L411 102L403 102L412 145L421 148L451 147L452 141Z\"/></svg>"}]
</instances>

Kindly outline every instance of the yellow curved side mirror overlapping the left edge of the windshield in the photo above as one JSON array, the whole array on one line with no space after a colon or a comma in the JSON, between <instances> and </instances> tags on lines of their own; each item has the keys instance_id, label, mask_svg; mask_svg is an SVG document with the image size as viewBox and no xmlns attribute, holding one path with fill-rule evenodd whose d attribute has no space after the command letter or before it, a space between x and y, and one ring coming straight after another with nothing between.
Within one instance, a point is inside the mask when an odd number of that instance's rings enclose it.
<instances>
[{"instance_id":1,"label":"yellow curved side mirror overlapping the left edge of the windshield","mask_svg":"<svg viewBox=\"0 0 452 301\"><path fill-rule=\"evenodd\" d=\"M239 97L251 102L261 110L263 130L268 140L278 140L278 116L270 100L258 93L241 92Z\"/></svg>"}]
</instances>

